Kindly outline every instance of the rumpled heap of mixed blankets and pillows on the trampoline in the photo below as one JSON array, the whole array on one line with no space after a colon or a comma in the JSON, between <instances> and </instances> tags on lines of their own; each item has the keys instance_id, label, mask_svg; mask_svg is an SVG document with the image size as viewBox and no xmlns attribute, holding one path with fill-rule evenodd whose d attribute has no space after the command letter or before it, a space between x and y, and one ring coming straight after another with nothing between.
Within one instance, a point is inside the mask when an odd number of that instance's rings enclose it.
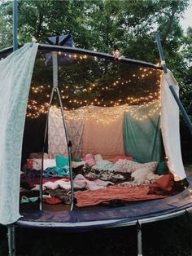
<instances>
[{"instance_id":1,"label":"rumpled heap of mixed blankets and pillows on the trampoline","mask_svg":"<svg viewBox=\"0 0 192 256\"><path fill-rule=\"evenodd\" d=\"M100 154L93 157L94 166L89 166L85 161L77 162L75 166L72 166L72 173L75 177L73 179L75 190L87 190L80 193L76 192L77 206L98 205L100 202L113 200L142 201L162 198L162 195L161 197L153 194L148 195L149 187L143 186L143 184L151 184L155 179L159 178L159 175L154 174L158 165L157 161L141 164L120 158L114 163L103 160ZM43 172L43 177L46 177L42 182L43 191L51 191L53 196L54 191L63 190L64 196L61 200L63 203L65 199L69 202L68 197L70 196L65 196L71 190L68 176L68 166L47 168ZM38 192L39 178L39 170L25 170L24 174L21 175L21 187ZM36 186L34 187L34 185Z\"/></svg>"}]
</instances>

